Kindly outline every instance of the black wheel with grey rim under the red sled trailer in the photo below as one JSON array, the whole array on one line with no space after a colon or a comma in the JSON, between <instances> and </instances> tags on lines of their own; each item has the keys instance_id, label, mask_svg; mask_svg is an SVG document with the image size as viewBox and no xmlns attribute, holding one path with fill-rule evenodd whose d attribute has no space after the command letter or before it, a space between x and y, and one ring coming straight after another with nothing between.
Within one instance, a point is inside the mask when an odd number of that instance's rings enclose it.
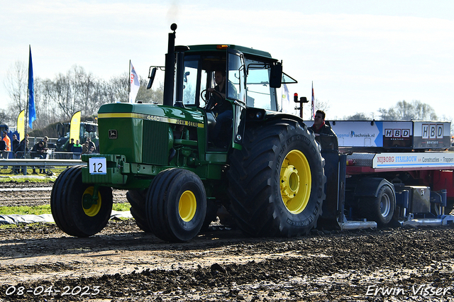
<instances>
[{"instance_id":1,"label":"black wheel with grey rim under the red sled trailer","mask_svg":"<svg viewBox=\"0 0 454 302\"><path fill-rule=\"evenodd\" d=\"M375 221L379 227L384 227L394 217L396 199L392 189L387 184L384 184L378 190L377 197L361 197L358 208L361 217Z\"/></svg>"}]
</instances>

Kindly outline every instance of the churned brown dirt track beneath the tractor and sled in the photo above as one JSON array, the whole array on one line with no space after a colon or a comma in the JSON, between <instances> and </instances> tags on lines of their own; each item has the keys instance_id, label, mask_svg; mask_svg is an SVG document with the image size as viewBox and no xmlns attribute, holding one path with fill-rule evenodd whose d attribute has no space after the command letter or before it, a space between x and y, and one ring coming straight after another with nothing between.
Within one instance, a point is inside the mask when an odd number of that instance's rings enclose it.
<instances>
[{"instance_id":1,"label":"churned brown dirt track beneath the tractor and sled","mask_svg":"<svg viewBox=\"0 0 454 302\"><path fill-rule=\"evenodd\" d=\"M7 192L0 206L50 196ZM134 220L89 238L22 225L0 230L0 301L454 301L453 235L450 225L249 238L213 224L170 244Z\"/></svg>"}]
</instances>

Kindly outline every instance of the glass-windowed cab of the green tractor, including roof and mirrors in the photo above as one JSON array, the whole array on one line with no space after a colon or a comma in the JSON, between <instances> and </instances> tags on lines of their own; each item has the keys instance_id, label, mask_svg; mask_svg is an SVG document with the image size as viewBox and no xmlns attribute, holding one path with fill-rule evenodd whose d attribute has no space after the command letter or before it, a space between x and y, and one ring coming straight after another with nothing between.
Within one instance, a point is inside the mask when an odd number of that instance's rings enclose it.
<instances>
[{"instance_id":1,"label":"glass-windowed cab of the green tractor, including roof and mirrors","mask_svg":"<svg viewBox=\"0 0 454 302\"><path fill-rule=\"evenodd\" d=\"M207 151L226 150L228 146L239 149L246 118L261 120L265 111L279 111L276 88L296 82L282 72L281 63L270 53L248 47L177 46L175 57L175 104L167 101L167 105L204 112ZM150 68L148 88L156 69ZM221 83L216 82L220 77ZM164 98L166 105L170 96Z\"/></svg>"}]
</instances>

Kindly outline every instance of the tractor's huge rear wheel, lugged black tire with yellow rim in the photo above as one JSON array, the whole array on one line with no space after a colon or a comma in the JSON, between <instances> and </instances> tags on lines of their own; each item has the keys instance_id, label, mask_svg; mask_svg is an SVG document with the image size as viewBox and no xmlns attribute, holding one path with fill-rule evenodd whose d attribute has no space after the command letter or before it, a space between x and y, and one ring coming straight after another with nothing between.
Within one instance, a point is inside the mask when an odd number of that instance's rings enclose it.
<instances>
[{"instance_id":1,"label":"tractor's huge rear wheel, lugged black tire with yellow rim","mask_svg":"<svg viewBox=\"0 0 454 302\"><path fill-rule=\"evenodd\" d=\"M324 160L306 125L269 121L245 130L228 170L229 211L244 233L292 237L316 227Z\"/></svg>"}]
</instances>

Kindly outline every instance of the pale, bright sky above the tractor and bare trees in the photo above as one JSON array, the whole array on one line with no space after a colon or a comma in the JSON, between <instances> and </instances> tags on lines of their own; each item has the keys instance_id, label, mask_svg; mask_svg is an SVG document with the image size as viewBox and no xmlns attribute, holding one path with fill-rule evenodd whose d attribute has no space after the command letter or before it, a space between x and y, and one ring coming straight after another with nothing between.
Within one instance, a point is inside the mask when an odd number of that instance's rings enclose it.
<instances>
[{"instance_id":1,"label":"pale, bright sky above the tractor and bare trees","mask_svg":"<svg viewBox=\"0 0 454 302\"><path fill-rule=\"evenodd\" d=\"M279 3L279 4L278 4ZM40 1L0 0L0 106L16 61L41 79L73 65L97 77L141 77L177 45L265 50L297 79L290 94L328 103L327 119L419 100L454 117L454 1ZM309 113L310 106L304 110ZM39 118L39 113L38 113Z\"/></svg>"}]
</instances>

